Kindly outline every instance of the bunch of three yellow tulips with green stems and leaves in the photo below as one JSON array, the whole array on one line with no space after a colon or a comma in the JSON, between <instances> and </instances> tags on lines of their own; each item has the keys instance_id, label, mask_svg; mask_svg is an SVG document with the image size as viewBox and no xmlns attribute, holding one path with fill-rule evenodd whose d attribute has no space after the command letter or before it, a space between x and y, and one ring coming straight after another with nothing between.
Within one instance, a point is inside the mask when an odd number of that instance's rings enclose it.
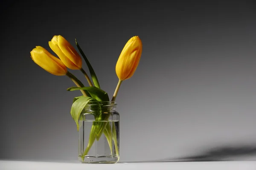
<instances>
[{"instance_id":1,"label":"bunch of three yellow tulips with green stems and leaves","mask_svg":"<svg viewBox=\"0 0 256 170\"><path fill-rule=\"evenodd\" d=\"M86 71L84 71L84 69L82 68L82 59L79 53L70 44L70 42L68 42L61 35L58 35L58 36L55 35L54 37L52 37L52 40L49 41L49 47L58 56L58 58L52 55L49 51L47 51L45 48L41 46L36 46L34 49L32 49L30 54L31 54L32 60L41 68L48 71L49 73L54 74L56 76L66 75L67 77L69 77L77 87L69 88L67 89L68 91L80 90L81 93L83 94L83 96L79 96L76 98L76 100L75 99L73 100L73 105L71 107L71 112L70 112L71 116L76 122L77 128L79 128L79 124L78 124L79 117L82 109L87 105L87 103L91 100L109 101L109 98L108 98L108 94L102 89L100 89L99 81L96 77L96 74L92 66L90 65L90 62L88 61L87 57L85 56L84 52L81 50L77 41L76 41L76 46L88 66L92 81L88 76L88 74L86 73ZM140 38L138 36L131 37L131 39L128 40L128 42L125 44L116 62L116 75L119 79L119 82L117 83L116 90L113 94L111 101L116 100L116 96L122 81L130 79L133 76L140 62L141 54L142 54L142 42ZM71 70L80 70L82 74L84 74L85 78L87 79L87 82L90 87L85 87L79 79L77 79L73 74L71 74L67 70L67 68ZM103 119L103 118L99 117L99 120L100 119ZM98 129L101 129L101 130L92 131L92 133L90 134L89 143L84 155L86 155L88 150L90 150L90 147L92 146L93 142L96 139L98 140L102 133L104 133L106 138L108 139L107 133L110 130L107 128L108 123L100 124L98 126L99 126ZM111 140L111 139L108 139L108 140Z\"/></svg>"}]
</instances>

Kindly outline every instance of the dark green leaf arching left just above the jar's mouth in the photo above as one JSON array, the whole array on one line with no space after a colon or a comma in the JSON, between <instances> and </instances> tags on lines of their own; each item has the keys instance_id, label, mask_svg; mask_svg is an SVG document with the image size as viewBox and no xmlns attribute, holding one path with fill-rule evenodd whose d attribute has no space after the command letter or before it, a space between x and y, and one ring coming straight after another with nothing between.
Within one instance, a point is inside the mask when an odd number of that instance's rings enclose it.
<instances>
[{"instance_id":1,"label":"dark green leaf arching left just above the jar's mouth","mask_svg":"<svg viewBox=\"0 0 256 170\"><path fill-rule=\"evenodd\" d=\"M92 98L98 100L98 101L109 101L108 93L103 91L102 89L96 88L96 87L71 87L68 88L67 91L75 91L75 90L86 90Z\"/></svg>"}]
</instances>

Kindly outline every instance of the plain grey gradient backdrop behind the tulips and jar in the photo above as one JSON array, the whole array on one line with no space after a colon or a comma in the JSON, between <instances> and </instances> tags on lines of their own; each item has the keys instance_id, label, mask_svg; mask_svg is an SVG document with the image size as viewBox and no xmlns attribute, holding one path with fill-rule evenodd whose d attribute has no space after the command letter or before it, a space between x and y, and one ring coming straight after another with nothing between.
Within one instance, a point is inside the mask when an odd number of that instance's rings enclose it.
<instances>
[{"instance_id":1,"label":"plain grey gradient backdrop behind the tulips and jar","mask_svg":"<svg viewBox=\"0 0 256 170\"><path fill-rule=\"evenodd\" d=\"M110 96L123 46L143 42L116 99L120 161L256 160L255 9L244 0L1 1L0 159L77 160L70 107L80 92L29 54L51 51L60 34L77 38Z\"/></svg>"}]
</instances>

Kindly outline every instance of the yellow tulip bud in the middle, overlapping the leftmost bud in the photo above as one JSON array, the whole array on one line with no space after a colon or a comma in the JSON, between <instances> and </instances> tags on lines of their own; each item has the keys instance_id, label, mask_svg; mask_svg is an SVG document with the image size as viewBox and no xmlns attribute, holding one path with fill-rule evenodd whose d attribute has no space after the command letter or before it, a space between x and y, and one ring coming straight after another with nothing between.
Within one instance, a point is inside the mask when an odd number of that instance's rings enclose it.
<instances>
[{"instance_id":1,"label":"yellow tulip bud in the middle, overlapping the leftmost bud","mask_svg":"<svg viewBox=\"0 0 256 170\"><path fill-rule=\"evenodd\" d=\"M61 35L55 35L49 46L55 54L61 59L67 68L72 70L80 70L82 67L82 59L75 48Z\"/></svg>"}]
</instances>

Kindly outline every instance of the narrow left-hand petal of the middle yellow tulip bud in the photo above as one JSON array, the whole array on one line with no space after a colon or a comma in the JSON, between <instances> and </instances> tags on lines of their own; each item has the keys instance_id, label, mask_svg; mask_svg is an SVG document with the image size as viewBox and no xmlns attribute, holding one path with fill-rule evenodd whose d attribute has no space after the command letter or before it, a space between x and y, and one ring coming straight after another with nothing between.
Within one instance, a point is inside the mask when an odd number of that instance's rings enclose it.
<instances>
[{"instance_id":1,"label":"narrow left-hand petal of the middle yellow tulip bud","mask_svg":"<svg viewBox=\"0 0 256 170\"><path fill-rule=\"evenodd\" d=\"M52 41L49 41L49 46L52 49L52 51L54 51L55 54L57 54L57 56L61 59L64 65L67 66L67 68L70 68L72 70L79 70L79 68L73 62L71 62L70 59L67 58L67 56L61 51L57 44L55 44Z\"/></svg>"}]
</instances>

